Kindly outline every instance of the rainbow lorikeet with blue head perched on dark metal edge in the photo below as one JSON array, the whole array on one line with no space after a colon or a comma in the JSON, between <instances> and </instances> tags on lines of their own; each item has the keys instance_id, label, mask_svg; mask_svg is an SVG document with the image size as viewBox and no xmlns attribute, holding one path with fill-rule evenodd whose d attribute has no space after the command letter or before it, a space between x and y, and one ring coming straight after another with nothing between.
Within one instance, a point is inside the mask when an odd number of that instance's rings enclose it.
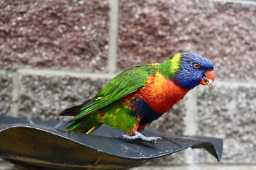
<instances>
[{"instance_id":1,"label":"rainbow lorikeet with blue head perched on dark metal edge","mask_svg":"<svg viewBox=\"0 0 256 170\"><path fill-rule=\"evenodd\" d=\"M102 124L116 127L134 140L156 141L160 137L145 137L141 131L160 118L199 84L212 84L213 63L190 52L180 52L162 64L140 65L118 74L96 96L62 111L74 115L67 130L85 132Z\"/></svg>"}]
</instances>

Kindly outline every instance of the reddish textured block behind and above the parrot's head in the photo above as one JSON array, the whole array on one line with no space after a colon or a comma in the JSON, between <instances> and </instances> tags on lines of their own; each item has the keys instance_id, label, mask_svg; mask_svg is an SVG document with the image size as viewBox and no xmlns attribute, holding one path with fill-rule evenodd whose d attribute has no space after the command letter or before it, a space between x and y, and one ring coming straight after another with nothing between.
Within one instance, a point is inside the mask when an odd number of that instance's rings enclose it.
<instances>
[{"instance_id":1,"label":"reddish textured block behind and above the parrot's head","mask_svg":"<svg viewBox=\"0 0 256 170\"><path fill-rule=\"evenodd\" d=\"M256 6L213 1L120 1L118 67L196 52L216 77L255 79ZM239 69L238 69L239 66Z\"/></svg>"}]
</instances>

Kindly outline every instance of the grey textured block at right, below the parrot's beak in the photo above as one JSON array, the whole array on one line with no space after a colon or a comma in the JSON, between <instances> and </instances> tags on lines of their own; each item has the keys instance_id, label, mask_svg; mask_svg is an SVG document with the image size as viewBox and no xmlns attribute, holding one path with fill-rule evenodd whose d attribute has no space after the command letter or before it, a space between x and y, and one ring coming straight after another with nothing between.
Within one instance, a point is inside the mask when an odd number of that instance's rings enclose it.
<instances>
[{"instance_id":1,"label":"grey textured block at right, below the parrot's beak","mask_svg":"<svg viewBox=\"0 0 256 170\"><path fill-rule=\"evenodd\" d=\"M255 164L256 87L211 86L208 92L199 88L198 98L198 135L224 140L221 162ZM213 161L206 153L199 154L195 160L200 163Z\"/></svg>"}]
</instances>

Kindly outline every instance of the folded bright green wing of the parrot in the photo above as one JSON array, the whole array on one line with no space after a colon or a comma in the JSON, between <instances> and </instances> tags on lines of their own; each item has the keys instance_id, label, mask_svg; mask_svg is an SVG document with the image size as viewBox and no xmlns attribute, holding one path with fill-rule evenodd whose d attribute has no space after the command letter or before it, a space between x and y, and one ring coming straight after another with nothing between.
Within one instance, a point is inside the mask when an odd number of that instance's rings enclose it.
<instances>
[{"instance_id":1,"label":"folded bright green wing of the parrot","mask_svg":"<svg viewBox=\"0 0 256 170\"><path fill-rule=\"evenodd\" d=\"M79 120L87 117L91 113L98 111L104 106L120 100L143 87L145 81L150 75L155 74L157 64L146 64L128 69L118 74L114 79L108 82L101 91L86 106L81 108L80 114L72 119Z\"/></svg>"}]
</instances>

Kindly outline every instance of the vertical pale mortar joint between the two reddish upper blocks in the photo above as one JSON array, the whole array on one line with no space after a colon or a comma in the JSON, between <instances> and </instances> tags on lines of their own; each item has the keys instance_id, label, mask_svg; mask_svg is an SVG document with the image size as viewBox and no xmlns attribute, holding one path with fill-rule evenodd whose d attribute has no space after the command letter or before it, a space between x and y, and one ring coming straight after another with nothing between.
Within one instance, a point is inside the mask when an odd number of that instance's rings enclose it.
<instances>
[{"instance_id":1,"label":"vertical pale mortar joint between the two reddish upper blocks","mask_svg":"<svg viewBox=\"0 0 256 170\"><path fill-rule=\"evenodd\" d=\"M118 0L108 0L110 11L108 30L108 72L116 72L118 50Z\"/></svg>"}]
</instances>

